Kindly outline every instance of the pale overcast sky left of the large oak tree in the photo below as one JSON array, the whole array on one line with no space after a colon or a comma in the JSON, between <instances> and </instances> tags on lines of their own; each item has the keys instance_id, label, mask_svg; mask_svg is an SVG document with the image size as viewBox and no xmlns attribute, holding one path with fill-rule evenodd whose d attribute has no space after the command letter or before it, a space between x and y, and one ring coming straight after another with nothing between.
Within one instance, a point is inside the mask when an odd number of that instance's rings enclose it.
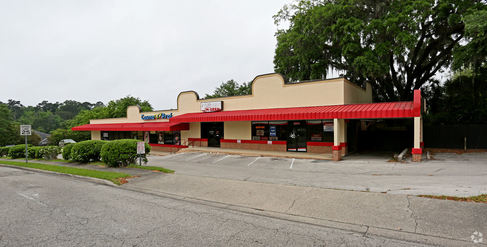
<instances>
[{"instance_id":1,"label":"pale overcast sky left of the large oak tree","mask_svg":"<svg viewBox=\"0 0 487 247\"><path fill-rule=\"evenodd\" d=\"M292 0L0 0L0 101L107 103L154 110L273 73L272 16Z\"/></svg>"}]
</instances>

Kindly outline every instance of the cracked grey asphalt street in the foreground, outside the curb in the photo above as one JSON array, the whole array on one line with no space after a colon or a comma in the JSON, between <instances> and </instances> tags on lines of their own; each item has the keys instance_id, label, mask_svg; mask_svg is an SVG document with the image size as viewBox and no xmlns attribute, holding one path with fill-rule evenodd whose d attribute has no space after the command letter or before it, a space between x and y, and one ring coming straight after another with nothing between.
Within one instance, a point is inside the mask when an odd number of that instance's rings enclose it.
<instances>
[{"instance_id":1,"label":"cracked grey asphalt street in the foreground, outside the curb","mask_svg":"<svg viewBox=\"0 0 487 247\"><path fill-rule=\"evenodd\" d=\"M418 246L0 167L0 246Z\"/></svg>"}]
</instances>

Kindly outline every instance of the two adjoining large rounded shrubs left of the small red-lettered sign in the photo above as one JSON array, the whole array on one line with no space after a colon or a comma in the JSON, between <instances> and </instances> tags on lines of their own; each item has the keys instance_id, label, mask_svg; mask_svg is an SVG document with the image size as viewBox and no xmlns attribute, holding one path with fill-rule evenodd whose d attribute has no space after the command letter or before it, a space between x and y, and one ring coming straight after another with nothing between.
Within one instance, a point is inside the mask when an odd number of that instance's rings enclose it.
<instances>
[{"instance_id":1,"label":"two adjoining large rounded shrubs left of the small red-lettered sign","mask_svg":"<svg viewBox=\"0 0 487 247\"><path fill-rule=\"evenodd\" d=\"M85 164L90 161L101 161L108 166L127 166L136 164L137 142L134 139L121 139L114 141L88 140L66 145L62 150L64 160L73 160ZM149 144L145 144L146 154L150 152ZM146 155L142 156L147 163Z\"/></svg>"}]
</instances>

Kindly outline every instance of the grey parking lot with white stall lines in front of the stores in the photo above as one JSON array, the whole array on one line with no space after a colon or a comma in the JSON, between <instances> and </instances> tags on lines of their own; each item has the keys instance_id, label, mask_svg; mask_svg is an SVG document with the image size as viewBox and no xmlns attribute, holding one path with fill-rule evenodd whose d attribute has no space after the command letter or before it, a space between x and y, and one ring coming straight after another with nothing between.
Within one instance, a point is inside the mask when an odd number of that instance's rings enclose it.
<instances>
[{"instance_id":1,"label":"grey parking lot with white stall lines in front of the stores","mask_svg":"<svg viewBox=\"0 0 487 247\"><path fill-rule=\"evenodd\" d=\"M340 162L181 153L148 156L176 174L405 195L487 194L487 153L438 154L435 160L388 162L390 153L351 154ZM409 158L410 159L410 158Z\"/></svg>"}]
</instances>

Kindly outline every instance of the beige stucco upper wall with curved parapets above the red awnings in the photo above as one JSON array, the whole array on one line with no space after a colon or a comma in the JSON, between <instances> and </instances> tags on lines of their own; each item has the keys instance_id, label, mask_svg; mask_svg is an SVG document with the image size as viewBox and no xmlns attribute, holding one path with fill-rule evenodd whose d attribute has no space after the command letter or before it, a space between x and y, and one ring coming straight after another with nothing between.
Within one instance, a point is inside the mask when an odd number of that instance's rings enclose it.
<instances>
[{"instance_id":1,"label":"beige stucco upper wall with curved parapets above the red awnings","mask_svg":"<svg viewBox=\"0 0 487 247\"><path fill-rule=\"evenodd\" d=\"M126 118L91 120L90 123L168 122L168 119L143 120L141 116L172 113L175 117L186 113L200 113L200 103L210 101L223 101L223 111L370 103L372 88L370 83L367 83L367 89L362 89L343 78L285 84L280 74L268 74L254 79L250 95L198 100L194 91L186 91L178 95L176 110L140 112L138 106L130 106ZM195 133L192 133L191 137L194 137Z\"/></svg>"}]
</instances>

